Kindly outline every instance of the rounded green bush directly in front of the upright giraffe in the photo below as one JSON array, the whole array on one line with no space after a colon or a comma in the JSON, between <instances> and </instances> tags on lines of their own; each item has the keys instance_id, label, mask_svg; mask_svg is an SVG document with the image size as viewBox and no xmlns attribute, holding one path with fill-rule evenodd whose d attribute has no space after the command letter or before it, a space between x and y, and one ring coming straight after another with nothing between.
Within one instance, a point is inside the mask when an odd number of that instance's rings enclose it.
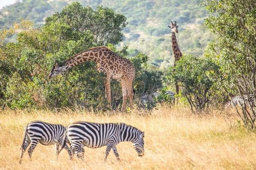
<instances>
[{"instance_id":1,"label":"rounded green bush directly in front of the upright giraffe","mask_svg":"<svg viewBox=\"0 0 256 170\"><path fill-rule=\"evenodd\" d=\"M182 56L177 65L169 68L166 76L170 76L174 82L178 82L182 95L186 97L191 110L211 108L216 102L213 81L207 73L218 73L218 66L210 58L200 59L194 55Z\"/></svg>"}]
</instances>

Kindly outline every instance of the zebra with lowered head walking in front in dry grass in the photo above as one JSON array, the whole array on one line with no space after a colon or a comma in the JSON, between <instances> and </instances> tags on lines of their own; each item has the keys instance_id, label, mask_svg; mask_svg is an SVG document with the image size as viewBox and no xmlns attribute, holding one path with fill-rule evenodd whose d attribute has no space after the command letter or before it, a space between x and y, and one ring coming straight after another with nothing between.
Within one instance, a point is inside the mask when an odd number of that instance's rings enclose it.
<instances>
[{"instance_id":1,"label":"zebra with lowered head walking in front in dry grass","mask_svg":"<svg viewBox=\"0 0 256 170\"><path fill-rule=\"evenodd\" d=\"M84 145L88 148L100 148L107 146L104 162L106 161L110 150L112 149L119 159L116 145L121 141L131 141L133 148L139 156L144 156L144 132L135 127L124 123L114 124L97 124L90 122L78 121L67 126L67 139L70 141L72 153L79 152L79 146ZM66 138L63 138L66 140ZM64 143L61 149L64 147ZM82 157L82 155L77 155Z\"/></svg>"}]
</instances>

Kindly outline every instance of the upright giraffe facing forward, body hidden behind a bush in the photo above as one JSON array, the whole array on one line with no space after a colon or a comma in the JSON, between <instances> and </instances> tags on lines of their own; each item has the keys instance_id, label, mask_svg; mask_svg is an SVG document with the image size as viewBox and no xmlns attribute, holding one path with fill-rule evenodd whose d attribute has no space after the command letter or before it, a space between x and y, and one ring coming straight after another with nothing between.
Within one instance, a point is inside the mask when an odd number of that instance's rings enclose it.
<instances>
[{"instance_id":1,"label":"upright giraffe facing forward, body hidden behind a bush","mask_svg":"<svg viewBox=\"0 0 256 170\"><path fill-rule=\"evenodd\" d=\"M172 44L173 44L173 53L174 53L174 67L176 66L176 61L180 60L180 57L182 56L182 53L180 52L178 43L177 43L177 39L176 39L176 35L175 33L178 33L178 28L179 26L177 26L176 21L173 24L173 22L171 22L171 26L168 26L171 29L171 35L172 35ZM173 72L175 71L175 68L173 70ZM175 82L175 86L176 86L176 94L179 94L180 88L177 82ZM177 99L178 100L178 99Z\"/></svg>"}]
</instances>

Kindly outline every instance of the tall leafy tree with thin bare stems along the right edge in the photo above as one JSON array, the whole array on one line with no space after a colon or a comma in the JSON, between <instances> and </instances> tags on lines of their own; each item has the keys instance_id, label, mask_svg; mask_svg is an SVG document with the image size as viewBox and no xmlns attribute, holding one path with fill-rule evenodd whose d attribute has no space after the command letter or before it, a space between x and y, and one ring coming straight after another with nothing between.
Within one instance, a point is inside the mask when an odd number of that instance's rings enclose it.
<instances>
[{"instance_id":1,"label":"tall leafy tree with thin bare stems along the right edge","mask_svg":"<svg viewBox=\"0 0 256 170\"><path fill-rule=\"evenodd\" d=\"M207 56L220 66L218 87L231 95L256 97L256 0L202 0L210 13L205 25L213 33ZM255 128L254 103L238 115L247 128Z\"/></svg>"}]
</instances>

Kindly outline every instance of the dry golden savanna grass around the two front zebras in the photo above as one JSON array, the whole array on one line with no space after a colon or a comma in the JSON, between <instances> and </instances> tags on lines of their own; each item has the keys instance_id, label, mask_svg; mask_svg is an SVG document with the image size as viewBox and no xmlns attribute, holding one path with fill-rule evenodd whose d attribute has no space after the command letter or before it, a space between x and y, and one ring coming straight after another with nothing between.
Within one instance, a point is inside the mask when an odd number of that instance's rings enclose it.
<instances>
[{"instance_id":1,"label":"dry golden savanna grass around the two front zebras","mask_svg":"<svg viewBox=\"0 0 256 170\"><path fill-rule=\"evenodd\" d=\"M132 143L121 142L106 163L106 147L85 149L84 160L70 161L63 150L56 161L54 146L38 144L29 161L27 151L22 163L20 146L27 123L41 120L67 126L74 121L99 123L124 122L145 131L145 156L138 157ZM254 170L256 169L256 134L245 130L235 111L192 113L184 107L154 110L143 115L128 113L95 114L82 111L5 110L0 111L1 170Z\"/></svg>"}]
</instances>

